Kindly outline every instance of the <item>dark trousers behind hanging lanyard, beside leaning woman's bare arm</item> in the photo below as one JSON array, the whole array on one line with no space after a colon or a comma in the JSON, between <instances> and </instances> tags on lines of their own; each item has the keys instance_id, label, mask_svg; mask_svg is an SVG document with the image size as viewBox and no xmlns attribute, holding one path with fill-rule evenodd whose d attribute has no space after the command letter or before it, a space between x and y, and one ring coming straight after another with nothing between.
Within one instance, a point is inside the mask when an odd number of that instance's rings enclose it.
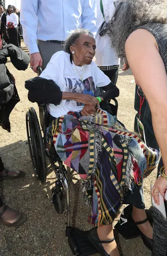
<instances>
[{"instance_id":1,"label":"dark trousers behind hanging lanyard, beside leaning woman's bare arm","mask_svg":"<svg viewBox=\"0 0 167 256\"><path fill-rule=\"evenodd\" d=\"M138 127L137 127L137 119L138 117L138 112L140 108L140 97L137 94L137 89L138 86L136 85L136 90L135 90L135 110L137 111L137 114L135 116L135 124L134 124L134 131L138 132ZM142 124L145 127L145 135L146 135L146 144L149 147L156 148L156 150L159 151L159 146L156 140L156 136L153 131L153 126L152 126L152 116L151 116L151 111L149 104L147 100L145 99L144 104L141 107L141 117L140 120Z\"/></svg>"}]
</instances>

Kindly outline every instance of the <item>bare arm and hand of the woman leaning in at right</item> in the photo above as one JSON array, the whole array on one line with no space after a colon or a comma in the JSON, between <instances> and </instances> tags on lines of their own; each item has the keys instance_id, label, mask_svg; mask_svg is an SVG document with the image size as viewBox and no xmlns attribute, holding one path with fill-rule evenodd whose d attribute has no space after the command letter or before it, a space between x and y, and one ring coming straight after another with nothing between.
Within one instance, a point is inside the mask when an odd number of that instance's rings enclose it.
<instances>
[{"instance_id":1,"label":"bare arm and hand of the woman leaning in at right","mask_svg":"<svg viewBox=\"0 0 167 256\"><path fill-rule=\"evenodd\" d=\"M167 175L167 76L156 39L149 31L137 29L127 39L125 51L137 84L148 100L154 133ZM154 189L164 196L166 188L166 180L162 177L157 179ZM152 190L152 195L159 204L158 194Z\"/></svg>"}]
</instances>

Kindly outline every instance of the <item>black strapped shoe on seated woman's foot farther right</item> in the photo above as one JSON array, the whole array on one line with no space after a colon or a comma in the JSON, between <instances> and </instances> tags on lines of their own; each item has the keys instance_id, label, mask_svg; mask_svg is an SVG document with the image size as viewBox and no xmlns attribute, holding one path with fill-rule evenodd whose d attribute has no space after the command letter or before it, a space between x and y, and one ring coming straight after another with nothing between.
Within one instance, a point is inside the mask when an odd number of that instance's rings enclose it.
<instances>
[{"instance_id":1,"label":"black strapped shoe on seated woman's foot farther right","mask_svg":"<svg viewBox=\"0 0 167 256\"><path fill-rule=\"evenodd\" d=\"M135 227L137 227L137 225L141 225L141 224L144 224L148 221L148 218L146 218L145 220L142 220L142 221L138 221L138 222L135 222L134 219L132 218L132 215L131 217L129 216L128 218L128 221L131 223L131 225L134 225ZM137 227L138 228L138 227ZM145 234L143 234L140 229L138 228L139 232L140 232L140 236L142 238L142 241L144 242L145 246L150 250L152 251L152 247L153 247L153 239L150 239L148 237L145 236Z\"/></svg>"}]
</instances>

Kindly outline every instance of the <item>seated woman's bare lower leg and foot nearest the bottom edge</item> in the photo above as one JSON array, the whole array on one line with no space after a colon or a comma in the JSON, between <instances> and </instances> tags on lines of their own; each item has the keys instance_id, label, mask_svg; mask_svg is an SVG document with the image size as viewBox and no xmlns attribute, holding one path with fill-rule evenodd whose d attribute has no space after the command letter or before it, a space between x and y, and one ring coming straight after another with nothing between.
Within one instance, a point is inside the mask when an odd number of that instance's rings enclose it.
<instances>
[{"instance_id":1,"label":"seated woman's bare lower leg and foot nearest the bottom edge","mask_svg":"<svg viewBox=\"0 0 167 256\"><path fill-rule=\"evenodd\" d=\"M98 227L98 236L99 239L104 241L104 240L109 240L114 237L113 233L113 225L105 225L102 227ZM105 251L110 255L110 256L119 256L120 253L118 252L117 244L115 240L111 243L103 243L102 244Z\"/></svg>"}]
</instances>

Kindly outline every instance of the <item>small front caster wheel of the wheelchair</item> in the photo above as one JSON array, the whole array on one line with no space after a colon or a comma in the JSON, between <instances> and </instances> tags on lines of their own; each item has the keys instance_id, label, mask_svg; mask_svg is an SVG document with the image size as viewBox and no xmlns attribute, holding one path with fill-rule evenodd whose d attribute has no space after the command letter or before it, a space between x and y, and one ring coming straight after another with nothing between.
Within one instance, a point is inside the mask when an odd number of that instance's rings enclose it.
<instances>
[{"instance_id":1,"label":"small front caster wheel of the wheelchair","mask_svg":"<svg viewBox=\"0 0 167 256\"><path fill-rule=\"evenodd\" d=\"M52 188L52 203L54 204L57 214L63 214L64 211L64 201L63 201L63 191L57 193L56 188Z\"/></svg>"}]
</instances>

